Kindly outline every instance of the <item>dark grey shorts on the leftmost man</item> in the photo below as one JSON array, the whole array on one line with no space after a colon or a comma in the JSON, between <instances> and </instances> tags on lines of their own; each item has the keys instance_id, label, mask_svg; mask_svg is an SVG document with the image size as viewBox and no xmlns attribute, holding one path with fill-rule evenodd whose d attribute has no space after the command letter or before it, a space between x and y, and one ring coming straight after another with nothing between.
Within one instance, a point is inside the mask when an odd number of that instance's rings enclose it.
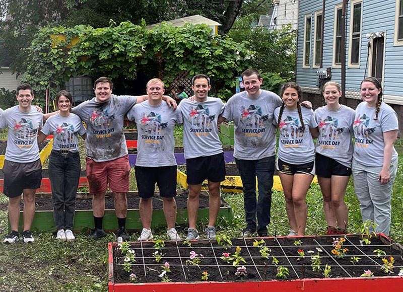
<instances>
[{"instance_id":1,"label":"dark grey shorts on the leftmost man","mask_svg":"<svg viewBox=\"0 0 403 292\"><path fill-rule=\"evenodd\" d=\"M37 189L42 181L42 164L34 162L20 163L4 161L4 194L9 198L21 196L25 189Z\"/></svg>"}]
</instances>

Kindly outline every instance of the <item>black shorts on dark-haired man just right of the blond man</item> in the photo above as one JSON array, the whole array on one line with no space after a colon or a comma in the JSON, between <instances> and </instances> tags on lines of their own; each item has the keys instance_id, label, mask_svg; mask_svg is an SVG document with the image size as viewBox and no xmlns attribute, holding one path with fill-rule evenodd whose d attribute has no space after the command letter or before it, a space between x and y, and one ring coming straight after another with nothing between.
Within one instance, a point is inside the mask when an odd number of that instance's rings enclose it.
<instances>
[{"instance_id":1,"label":"black shorts on dark-haired man just right of the blond man","mask_svg":"<svg viewBox=\"0 0 403 292\"><path fill-rule=\"evenodd\" d=\"M224 153L186 159L187 183L198 185L205 179L210 182L225 180Z\"/></svg>"}]
</instances>

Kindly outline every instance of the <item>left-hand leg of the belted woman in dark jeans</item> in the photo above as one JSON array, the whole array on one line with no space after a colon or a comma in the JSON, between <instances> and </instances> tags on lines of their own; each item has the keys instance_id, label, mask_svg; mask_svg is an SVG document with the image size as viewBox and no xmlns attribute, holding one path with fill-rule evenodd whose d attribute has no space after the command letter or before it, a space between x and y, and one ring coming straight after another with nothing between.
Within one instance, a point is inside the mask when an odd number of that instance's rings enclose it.
<instances>
[{"instance_id":1,"label":"left-hand leg of the belted woman in dark jeans","mask_svg":"<svg viewBox=\"0 0 403 292\"><path fill-rule=\"evenodd\" d=\"M57 152L52 152L49 157L49 180L52 188L53 219L56 230L64 229L64 164L63 158Z\"/></svg>"}]
</instances>

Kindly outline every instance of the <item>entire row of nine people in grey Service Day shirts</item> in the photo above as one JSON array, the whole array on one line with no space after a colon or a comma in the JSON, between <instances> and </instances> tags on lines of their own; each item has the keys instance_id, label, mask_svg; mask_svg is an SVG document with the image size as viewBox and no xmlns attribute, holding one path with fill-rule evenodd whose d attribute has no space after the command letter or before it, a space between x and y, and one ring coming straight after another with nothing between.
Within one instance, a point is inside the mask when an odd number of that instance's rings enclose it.
<instances>
[{"instance_id":1,"label":"entire row of nine people in grey Service Day shirts","mask_svg":"<svg viewBox=\"0 0 403 292\"><path fill-rule=\"evenodd\" d=\"M247 69L241 76L245 91L235 94L226 104L208 96L211 89L208 76L194 76L191 80L194 96L184 98L177 109L174 100L164 95L164 82L160 79L147 83L147 95L135 97L113 95L113 83L101 77L94 84L95 98L72 108L72 96L61 91L56 96L59 111L45 115L31 107L32 88L20 85L17 88L19 105L5 110L0 117L0 127L9 128L3 170L4 193L10 198L12 231L4 242L11 244L19 240L21 193L24 195L22 236L24 242L34 242L30 226L35 212L35 191L42 178L38 142L49 134L54 135L49 174L56 238L75 239L72 229L80 176L78 135L81 135L85 139L86 171L93 195L94 229L89 238L97 240L106 235L102 221L105 192L109 188L114 196L117 237L128 240L125 194L129 190L130 166L123 134L126 115L136 122L138 129L135 173L143 224L139 241L153 238L152 198L156 183L163 199L167 236L180 240L175 229L175 124L183 124L189 185L186 240L199 238L196 229L198 199L201 184L206 179L210 208L206 236L216 238L220 183L225 179L224 153L218 135L218 125L223 121L234 122L234 157L243 184L246 215L242 236L251 236L254 232L267 236L275 168L284 189L289 236L305 234L305 198L315 172L323 193L327 234L346 233L348 210L344 196L353 173L363 221L372 220L378 225L377 232L388 235L391 191L397 171L393 143L398 122L393 109L382 102L379 81L367 78L362 82L364 102L356 111L339 103L340 85L328 82L323 87L326 106L314 112L309 102L300 103L302 91L296 83L285 84L279 97L260 89L262 79L256 69ZM42 120L46 120L43 127ZM280 135L277 160L276 128ZM316 146L314 138L317 138Z\"/></svg>"}]
</instances>

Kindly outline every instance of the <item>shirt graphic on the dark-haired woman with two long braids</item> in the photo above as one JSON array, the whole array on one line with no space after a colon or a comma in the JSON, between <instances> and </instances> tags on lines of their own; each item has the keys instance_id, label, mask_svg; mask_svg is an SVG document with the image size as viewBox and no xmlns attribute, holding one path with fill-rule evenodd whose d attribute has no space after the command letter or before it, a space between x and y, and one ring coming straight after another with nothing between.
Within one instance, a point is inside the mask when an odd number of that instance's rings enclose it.
<instances>
[{"instance_id":1,"label":"shirt graphic on the dark-haired woman with two long braids","mask_svg":"<svg viewBox=\"0 0 403 292\"><path fill-rule=\"evenodd\" d=\"M302 129L299 118L287 116L279 123L281 143L284 148L299 147L303 142L304 130Z\"/></svg>"}]
</instances>

